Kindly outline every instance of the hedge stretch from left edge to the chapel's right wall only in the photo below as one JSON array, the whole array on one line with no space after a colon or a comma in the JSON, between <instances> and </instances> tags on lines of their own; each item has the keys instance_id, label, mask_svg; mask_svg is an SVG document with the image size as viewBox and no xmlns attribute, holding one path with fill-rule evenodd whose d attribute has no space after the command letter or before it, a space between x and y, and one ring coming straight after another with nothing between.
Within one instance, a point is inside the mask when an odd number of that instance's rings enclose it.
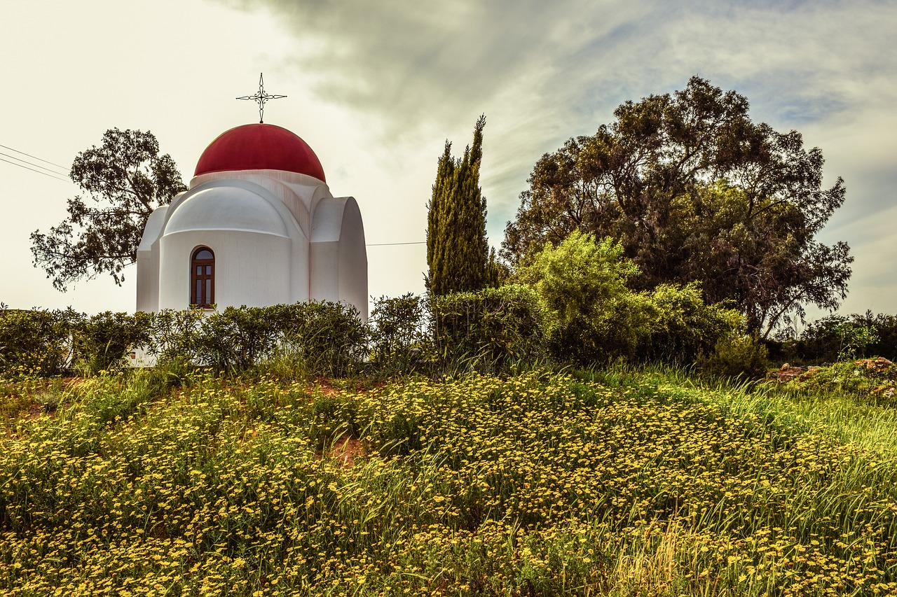
<instances>
[{"instance_id":1,"label":"hedge stretch from left edge to the chapel's right wall only","mask_svg":"<svg viewBox=\"0 0 897 597\"><path fill-rule=\"evenodd\" d=\"M221 312L100 313L0 310L0 371L6 376L93 375L143 350L158 363L245 370L275 357L313 360L321 375L344 375L368 338L352 307L312 302L227 307Z\"/></svg>"}]
</instances>

